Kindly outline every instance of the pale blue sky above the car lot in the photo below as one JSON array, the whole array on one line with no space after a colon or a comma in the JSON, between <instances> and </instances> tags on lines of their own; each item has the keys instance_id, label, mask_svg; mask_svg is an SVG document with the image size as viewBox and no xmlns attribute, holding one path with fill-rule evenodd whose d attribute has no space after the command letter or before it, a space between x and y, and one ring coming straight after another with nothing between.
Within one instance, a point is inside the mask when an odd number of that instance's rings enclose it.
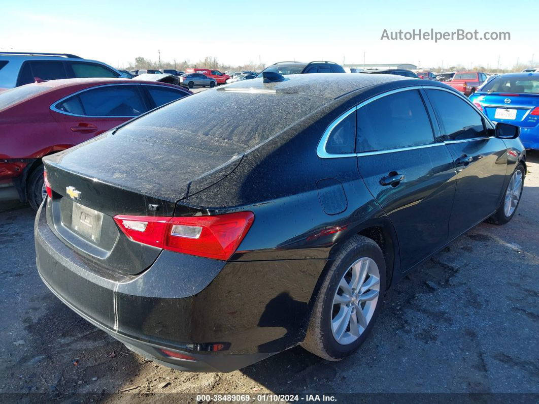
<instances>
[{"instance_id":1,"label":"pale blue sky above the car lot","mask_svg":"<svg viewBox=\"0 0 539 404\"><path fill-rule=\"evenodd\" d=\"M127 67L135 57L220 63L281 60L539 65L539 1L25 0L2 5L0 51L73 53ZM510 40L381 40L392 31L510 32Z\"/></svg>"}]
</instances>

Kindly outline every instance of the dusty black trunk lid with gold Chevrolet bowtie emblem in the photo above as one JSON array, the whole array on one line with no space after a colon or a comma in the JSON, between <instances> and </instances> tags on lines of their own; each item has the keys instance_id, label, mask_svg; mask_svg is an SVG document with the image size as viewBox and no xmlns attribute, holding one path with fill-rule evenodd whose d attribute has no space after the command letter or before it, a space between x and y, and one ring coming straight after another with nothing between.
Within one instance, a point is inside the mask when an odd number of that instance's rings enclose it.
<instances>
[{"instance_id":1,"label":"dusty black trunk lid with gold Chevrolet bowtie emblem","mask_svg":"<svg viewBox=\"0 0 539 404\"><path fill-rule=\"evenodd\" d=\"M49 225L56 235L103 268L129 275L147 269L161 249L132 241L114 222L116 215L172 216L193 180L219 181L241 159L132 141L118 144L110 133L84 148L44 159L53 197L47 201ZM103 156L106 154L106 159ZM148 156L145 159L144 156ZM211 181L206 180L206 174Z\"/></svg>"}]
</instances>

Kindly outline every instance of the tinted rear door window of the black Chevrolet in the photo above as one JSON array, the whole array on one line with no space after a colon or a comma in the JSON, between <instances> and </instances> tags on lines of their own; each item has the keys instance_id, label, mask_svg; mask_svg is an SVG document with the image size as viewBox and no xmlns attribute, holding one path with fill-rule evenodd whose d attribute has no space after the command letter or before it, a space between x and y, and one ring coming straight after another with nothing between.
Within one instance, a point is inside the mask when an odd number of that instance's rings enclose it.
<instances>
[{"instance_id":1,"label":"tinted rear door window of the black Chevrolet","mask_svg":"<svg viewBox=\"0 0 539 404\"><path fill-rule=\"evenodd\" d=\"M386 95L357 110L358 153L433 142L431 121L417 90Z\"/></svg>"}]
</instances>

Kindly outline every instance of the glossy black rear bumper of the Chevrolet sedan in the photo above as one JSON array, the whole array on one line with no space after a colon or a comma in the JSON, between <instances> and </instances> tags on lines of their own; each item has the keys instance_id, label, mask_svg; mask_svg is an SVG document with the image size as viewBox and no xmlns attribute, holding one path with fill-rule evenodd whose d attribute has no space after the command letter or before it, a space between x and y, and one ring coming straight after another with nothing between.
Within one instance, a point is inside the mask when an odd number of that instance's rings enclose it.
<instances>
[{"instance_id":1,"label":"glossy black rear bumper of the Chevrolet sedan","mask_svg":"<svg viewBox=\"0 0 539 404\"><path fill-rule=\"evenodd\" d=\"M184 371L229 372L302 342L325 260L227 263L163 251L140 275L112 273L61 241L46 209L42 204L34 230L44 283L144 357ZM209 352L213 344L225 348Z\"/></svg>"}]
</instances>

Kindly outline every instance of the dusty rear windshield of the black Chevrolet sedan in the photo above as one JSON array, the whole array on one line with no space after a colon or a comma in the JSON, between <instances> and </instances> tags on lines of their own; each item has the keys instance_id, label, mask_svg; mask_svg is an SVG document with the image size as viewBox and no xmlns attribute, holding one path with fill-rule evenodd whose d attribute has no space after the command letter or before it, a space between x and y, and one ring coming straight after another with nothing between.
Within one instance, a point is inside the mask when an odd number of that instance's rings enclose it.
<instances>
[{"instance_id":1,"label":"dusty rear windshield of the black Chevrolet sedan","mask_svg":"<svg viewBox=\"0 0 539 404\"><path fill-rule=\"evenodd\" d=\"M205 91L159 108L116 135L211 155L244 153L320 108L307 94ZM179 162L178 162L179 164Z\"/></svg>"}]
</instances>

